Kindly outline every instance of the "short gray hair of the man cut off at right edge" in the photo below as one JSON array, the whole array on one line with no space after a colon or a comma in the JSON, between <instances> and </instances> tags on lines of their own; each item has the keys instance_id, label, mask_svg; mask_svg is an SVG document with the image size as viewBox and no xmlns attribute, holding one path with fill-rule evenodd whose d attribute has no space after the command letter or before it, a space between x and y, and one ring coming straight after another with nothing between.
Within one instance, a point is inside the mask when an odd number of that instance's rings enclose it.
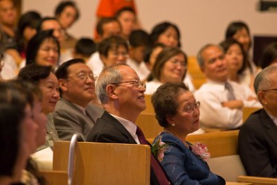
<instances>
[{"instance_id":1,"label":"short gray hair of the man cut off at right edge","mask_svg":"<svg viewBox=\"0 0 277 185\"><path fill-rule=\"evenodd\" d=\"M271 74L276 72L277 66L269 66L258 73L254 81L256 94L258 94L258 91L270 89L271 85L277 82L276 79L271 78Z\"/></svg>"}]
</instances>

